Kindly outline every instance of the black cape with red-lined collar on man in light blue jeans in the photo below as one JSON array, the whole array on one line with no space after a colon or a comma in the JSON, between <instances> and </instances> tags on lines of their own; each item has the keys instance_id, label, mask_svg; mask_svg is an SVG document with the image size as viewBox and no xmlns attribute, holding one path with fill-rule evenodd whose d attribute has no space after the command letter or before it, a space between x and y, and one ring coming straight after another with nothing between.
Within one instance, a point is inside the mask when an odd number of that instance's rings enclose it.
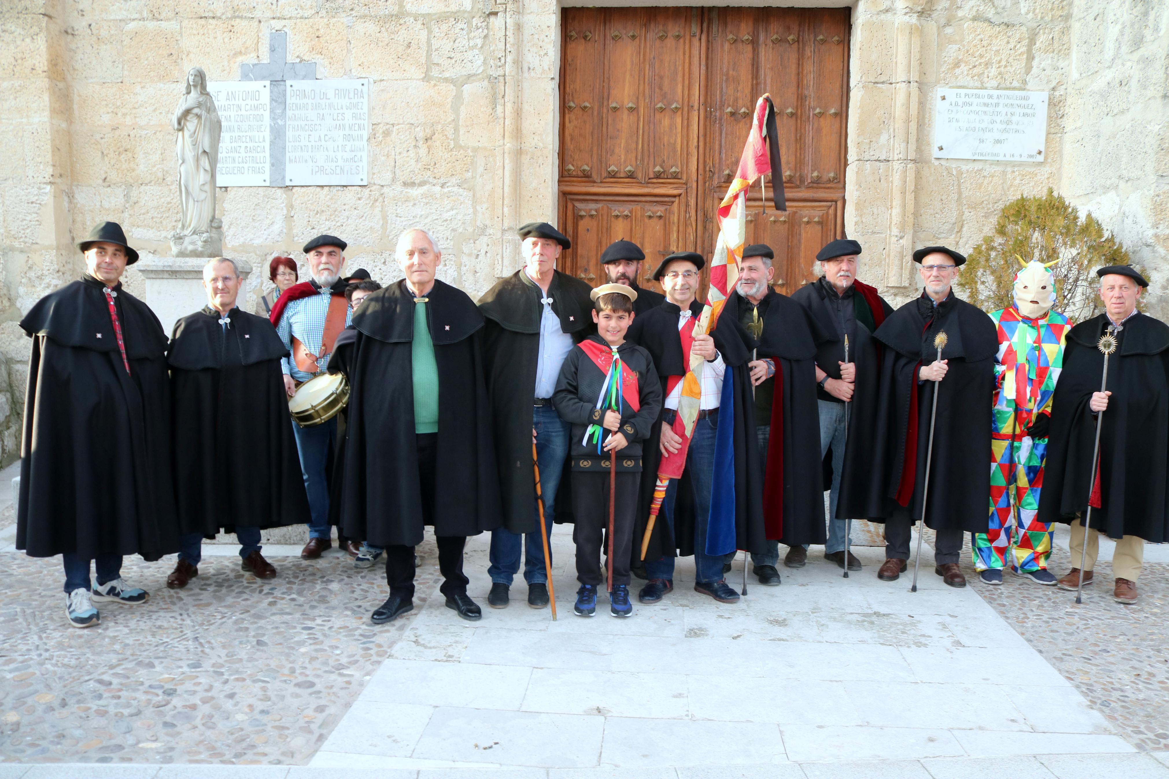
<instances>
[{"instance_id":1,"label":"black cape with red-lined collar on man in light blue jeans","mask_svg":"<svg viewBox=\"0 0 1169 779\"><path fill-rule=\"evenodd\" d=\"M859 292L855 291L852 294L855 295L853 305L859 305L858 301L864 300L864 297ZM832 313L826 293L821 285L804 285L791 295L791 299L800 302L800 305L804 306L811 313L812 319L817 321L822 331L832 335L832 350L839 353L839 357L832 359L843 359L844 334L841 332L841 322ZM867 301L863 305L867 305ZM893 308L884 299L881 299L880 305L887 319L893 313ZM848 443L844 447L843 472L849 473L853 471L865 474L872 467L876 457L874 452L880 451L874 438L876 431L866 420L877 418L884 349L880 341L873 338L873 334L859 319L857 320L855 331L855 336L849 339L849 360L857 367L857 381L852 385L852 401L849 404L849 430ZM823 352L822 349L821 354ZM815 369L812 374L815 375ZM839 371L830 375L833 377L838 376ZM849 481L844 473L841 475L842 491L843 486ZM824 484L825 489L830 487L831 482ZM841 514L839 502L838 500L837 514L839 516L836 519L849 519Z\"/></svg>"}]
</instances>

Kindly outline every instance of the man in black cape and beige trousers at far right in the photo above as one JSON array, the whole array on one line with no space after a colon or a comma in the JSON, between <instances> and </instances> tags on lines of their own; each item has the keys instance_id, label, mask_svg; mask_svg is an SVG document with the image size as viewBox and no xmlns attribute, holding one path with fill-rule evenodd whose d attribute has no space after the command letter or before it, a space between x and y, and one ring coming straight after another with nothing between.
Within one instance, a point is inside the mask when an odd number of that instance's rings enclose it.
<instances>
[{"instance_id":1,"label":"man in black cape and beige trousers at far right","mask_svg":"<svg viewBox=\"0 0 1169 779\"><path fill-rule=\"evenodd\" d=\"M1051 438L1040 522L1072 524L1071 572L1059 580L1075 590L1084 555L1081 516L1092 499L1091 530L1116 540L1112 557L1113 598L1136 601L1144 541L1169 541L1169 327L1136 309L1148 281L1128 265L1097 271L1105 313L1067 332L1064 369L1051 408ZM1112 332L1108 390L1100 391L1100 338ZM1102 416L1100 416L1102 413ZM1100 419L1099 475L1091 488L1092 448ZM1142 541L1143 540L1143 541ZM1090 533L1084 584L1093 580L1099 535Z\"/></svg>"}]
</instances>

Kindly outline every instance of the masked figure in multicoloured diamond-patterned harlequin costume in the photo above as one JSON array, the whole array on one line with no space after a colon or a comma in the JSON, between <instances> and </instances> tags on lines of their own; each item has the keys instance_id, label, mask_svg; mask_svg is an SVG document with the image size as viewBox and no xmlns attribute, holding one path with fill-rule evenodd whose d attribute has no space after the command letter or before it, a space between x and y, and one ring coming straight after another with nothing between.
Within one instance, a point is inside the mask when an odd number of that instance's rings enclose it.
<instances>
[{"instance_id":1,"label":"masked figure in multicoloured diamond-patterned harlequin costume","mask_svg":"<svg viewBox=\"0 0 1169 779\"><path fill-rule=\"evenodd\" d=\"M990 517L987 531L971 534L970 543L974 565L985 584L1003 583L1008 551L1012 572L1039 584L1056 584L1047 571L1051 524L1036 519L1051 398L1071 328L1066 315L1051 309L1054 302L1051 270L1032 260L1015 274L1015 301L990 314L998 329Z\"/></svg>"}]
</instances>

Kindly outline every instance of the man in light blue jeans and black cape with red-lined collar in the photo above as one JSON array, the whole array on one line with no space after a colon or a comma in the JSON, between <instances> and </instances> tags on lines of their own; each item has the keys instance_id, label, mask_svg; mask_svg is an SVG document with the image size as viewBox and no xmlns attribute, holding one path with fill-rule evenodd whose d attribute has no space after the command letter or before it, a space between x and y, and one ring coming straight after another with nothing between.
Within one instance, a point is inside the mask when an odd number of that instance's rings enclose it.
<instances>
[{"instance_id":1,"label":"man in light blue jeans and black cape with red-lined collar","mask_svg":"<svg viewBox=\"0 0 1169 779\"><path fill-rule=\"evenodd\" d=\"M816 255L823 276L807 284L791 299L808 309L819 328L830 334L816 349L816 405L819 412L821 454L832 452L832 481L829 495L828 542L824 558L844 568L845 526L848 520L836 519L841 480L845 467L867 468L872 457L870 430L859 427L856 419L858 405L865 406L863 418L872 417L880 387L880 349L873 332L893 313L876 287L857 280L857 256L860 244L848 238L829 242ZM849 350L845 361L844 339ZM849 427L845 429L845 404L849 405ZM850 540L851 541L851 540ZM798 568L807 557L802 547L793 547L784 564ZM849 552L849 570L860 570L860 561Z\"/></svg>"}]
</instances>

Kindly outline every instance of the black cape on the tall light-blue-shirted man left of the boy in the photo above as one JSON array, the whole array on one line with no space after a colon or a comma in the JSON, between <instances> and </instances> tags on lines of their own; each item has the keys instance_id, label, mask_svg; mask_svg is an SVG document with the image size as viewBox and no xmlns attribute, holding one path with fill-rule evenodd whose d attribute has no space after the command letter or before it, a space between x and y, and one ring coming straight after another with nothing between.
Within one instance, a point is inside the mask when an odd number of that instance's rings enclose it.
<instances>
[{"instance_id":1,"label":"black cape on the tall light-blue-shirted man left of the boy","mask_svg":"<svg viewBox=\"0 0 1169 779\"><path fill-rule=\"evenodd\" d=\"M548 286L552 311L560 329L580 343L596 332L593 324L593 291L588 284L556 271ZM532 470L532 401L535 369L540 359L540 318L544 292L521 267L479 298L486 318L483 328L483 362L494 424L499 489L504 527L512 533L535 533L535 473ZM364 304L362 304L364 305ZM572 500L567 458L556 492L556 514L570 521ZM546 517L552 522L553 517Z\"/></svg>"}]
</instances>

